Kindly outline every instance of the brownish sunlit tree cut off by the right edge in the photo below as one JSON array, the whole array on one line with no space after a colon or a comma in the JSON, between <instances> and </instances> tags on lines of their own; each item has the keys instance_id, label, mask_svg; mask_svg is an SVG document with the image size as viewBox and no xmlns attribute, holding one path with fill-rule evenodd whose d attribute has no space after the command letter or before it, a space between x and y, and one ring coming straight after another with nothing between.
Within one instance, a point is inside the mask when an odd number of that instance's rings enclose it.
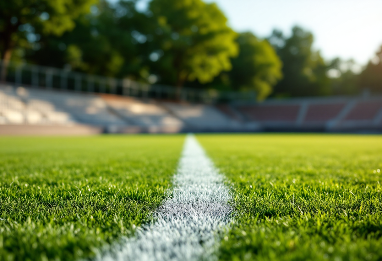
<instances>
[{"instance_id":1,"label":"brownish sunlit tree cut off by the right edge","mask_svg":"<svg viewBox=\"0 0 382 261\"><path fill-rule=\"evenodd\" d=\"M382 46L376 56L367 63L359 76L359 88L369 89L374 93L382 92Z\"/></svg>"}]
</instances>

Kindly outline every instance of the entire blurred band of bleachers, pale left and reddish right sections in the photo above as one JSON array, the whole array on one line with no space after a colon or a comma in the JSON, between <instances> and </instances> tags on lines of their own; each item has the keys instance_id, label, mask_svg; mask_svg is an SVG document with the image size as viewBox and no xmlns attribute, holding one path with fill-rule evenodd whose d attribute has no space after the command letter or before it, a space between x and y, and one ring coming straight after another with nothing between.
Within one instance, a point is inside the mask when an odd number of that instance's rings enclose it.
<instances>
[{"instance_id":1,"label":"entire blurred band of bleachers, pale left and reddish right sections","mask_svg":"<svg viewBox=\"0 0 382 261\"><path fill-rule=\"evenodd\" d=\"M382 97L299 98L257 104L207 105L0 85L0 134L28 134L27 129L48 134L49 130L65 134L74 129L73 133L83 134L379 132L382 131Z\"/></svg>"}]
</instances>

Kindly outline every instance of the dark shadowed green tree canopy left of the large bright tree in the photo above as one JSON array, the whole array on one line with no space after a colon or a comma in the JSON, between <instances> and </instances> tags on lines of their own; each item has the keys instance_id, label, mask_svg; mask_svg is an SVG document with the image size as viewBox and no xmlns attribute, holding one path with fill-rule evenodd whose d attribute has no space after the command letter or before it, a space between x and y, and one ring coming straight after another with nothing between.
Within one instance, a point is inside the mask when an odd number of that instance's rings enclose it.
<instances>
[{"instance_id":1,"label":"dark shadowed green tree canopy left of the large bright tree","mask_svg":"<svg viewBox=\"0 0 382 261\"><path fill-rule=\"evenodd\" d=\"M70 64L72 69L84 73L139 79L140 74L147 74L148 45L152 39L145 35L151 27L147 22L150 18L136 11L135 3L121 1L110 5L100 1L92 13L75 20L72 31L60 37L43 37L44 48L29 52L29 58L55 67Z\"/></svg>"}]
</instances>

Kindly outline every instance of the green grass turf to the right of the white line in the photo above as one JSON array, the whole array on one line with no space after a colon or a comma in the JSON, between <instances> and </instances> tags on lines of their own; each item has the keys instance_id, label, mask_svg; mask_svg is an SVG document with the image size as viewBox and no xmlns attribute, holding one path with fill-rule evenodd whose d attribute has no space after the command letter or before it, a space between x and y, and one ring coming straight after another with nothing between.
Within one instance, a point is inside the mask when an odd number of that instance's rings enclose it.
<instances>
[{"instance_id":1,"label":"green grass turf to the right of the white line","mask_svg":"<svg viewBox=\"0 0 382 261\"><path fill-rule=\"evenodd\" d=\"M235 195L221 260L382 259L382 137L197 137Z\"/></svg>"}]
</instances>

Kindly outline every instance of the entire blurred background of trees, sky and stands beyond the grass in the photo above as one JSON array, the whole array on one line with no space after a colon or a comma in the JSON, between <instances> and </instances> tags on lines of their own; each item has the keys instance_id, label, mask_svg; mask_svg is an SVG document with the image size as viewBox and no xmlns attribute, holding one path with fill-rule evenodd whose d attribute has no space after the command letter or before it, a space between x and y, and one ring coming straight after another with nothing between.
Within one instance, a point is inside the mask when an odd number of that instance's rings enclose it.
<instances>
[{"instance_id":1,"label":"entire blurred background of trees, sky and stands beyond the grass","mask_svg":"<svg viewBox=\"0 0 382 261\"><path fill-rule=\"evenodd\" d=\"M381 10L2 1L0 134L380 132Z\"/></svg>"}]
</instances>

